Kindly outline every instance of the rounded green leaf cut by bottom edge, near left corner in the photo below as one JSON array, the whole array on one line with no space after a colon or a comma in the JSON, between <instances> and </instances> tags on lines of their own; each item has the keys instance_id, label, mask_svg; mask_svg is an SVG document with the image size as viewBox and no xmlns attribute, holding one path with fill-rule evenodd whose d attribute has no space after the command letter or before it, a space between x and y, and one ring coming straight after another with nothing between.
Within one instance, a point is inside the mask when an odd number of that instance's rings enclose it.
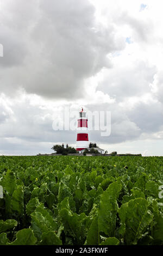
<instances>
[{"instance_id":1,"label":"rounded green leaf cut by bottom edge, near left corner","mask_svg":"<svg viewBox=\"0 0 163 256\"><path fill-rule=\"evenodd\" d=\"M24 228L17 232L15 241L7 245L35 245L36 241L33 230Z\"/></svg>"}]
</instances>

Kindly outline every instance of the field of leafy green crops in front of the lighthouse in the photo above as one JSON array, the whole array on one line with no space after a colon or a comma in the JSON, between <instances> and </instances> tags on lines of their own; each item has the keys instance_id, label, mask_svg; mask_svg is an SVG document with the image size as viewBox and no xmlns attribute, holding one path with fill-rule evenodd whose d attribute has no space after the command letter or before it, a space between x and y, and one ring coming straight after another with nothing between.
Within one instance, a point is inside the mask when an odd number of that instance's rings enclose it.
<instances>
[{"instance_id":1,"label":"field of leafy green crops in front of the lighthouse","mask_svg":"<svg viewBox=\"0 0 163 256\"><path fill-rule=\"evenodd\" d=\"M0 245L162 245L163 157L1 156Z\"/></svg>"}]
</instances>

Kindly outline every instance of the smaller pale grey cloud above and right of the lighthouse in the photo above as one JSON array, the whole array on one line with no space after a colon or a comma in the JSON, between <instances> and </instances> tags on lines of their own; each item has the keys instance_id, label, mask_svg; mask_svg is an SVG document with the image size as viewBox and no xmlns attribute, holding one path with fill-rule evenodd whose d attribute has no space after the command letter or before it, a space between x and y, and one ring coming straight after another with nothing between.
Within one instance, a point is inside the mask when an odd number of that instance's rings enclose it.
<instances>
[{"instance_id":1,"label":"smaller pale grey cloud above and right of the lighthouse","mask_svg":"<svg viewBox=\"0 0 163 256\"><path fill-rule=\"evenodd\" d=\"M155 72L154 65L150 66L143 61L131 63L128 68L114 67L108 70L104 81L99 83L98 89L116 97L117 102L131 96L142 96L145 93L151 93L149 84L153 83Z\"/></svg>"}]
</instances>

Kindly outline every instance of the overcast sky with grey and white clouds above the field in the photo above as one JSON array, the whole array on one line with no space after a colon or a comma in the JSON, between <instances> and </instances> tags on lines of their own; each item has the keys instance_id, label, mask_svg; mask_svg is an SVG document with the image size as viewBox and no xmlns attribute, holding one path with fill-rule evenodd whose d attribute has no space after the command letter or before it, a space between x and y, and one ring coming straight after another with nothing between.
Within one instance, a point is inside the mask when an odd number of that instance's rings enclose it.
<instances>
[{"instance_id":1,"label":"overcast sky with grey and white clouds above the field","mask_svg":"<svg viewBox=\"0 0 163 256\"><path fill-rule=\"evenodd\" d=\"M0 155L76 147L65 108L111 113L109 153L163 155L161 0L0 0ZM3 47L2 47L3 46Z\"/></svg>"}]
</instances>

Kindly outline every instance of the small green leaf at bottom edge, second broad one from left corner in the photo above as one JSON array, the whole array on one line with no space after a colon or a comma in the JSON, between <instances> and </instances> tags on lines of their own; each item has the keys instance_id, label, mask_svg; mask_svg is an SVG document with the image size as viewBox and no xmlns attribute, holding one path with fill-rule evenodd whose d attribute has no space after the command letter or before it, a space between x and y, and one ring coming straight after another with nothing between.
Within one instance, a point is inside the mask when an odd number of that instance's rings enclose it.
<instances>
[{"instance_id":1,"label":"small green leaf at bottom edge, second broad one from left corner","mask_svg":"<svg viewBox=\"0 0 163 256\"><path fill-rule=\"evenodd\" d=\"M62 245L62 241L58 238L54 231L48 231L42 234L40 245Z\"/></svg>"}]
</instances>

